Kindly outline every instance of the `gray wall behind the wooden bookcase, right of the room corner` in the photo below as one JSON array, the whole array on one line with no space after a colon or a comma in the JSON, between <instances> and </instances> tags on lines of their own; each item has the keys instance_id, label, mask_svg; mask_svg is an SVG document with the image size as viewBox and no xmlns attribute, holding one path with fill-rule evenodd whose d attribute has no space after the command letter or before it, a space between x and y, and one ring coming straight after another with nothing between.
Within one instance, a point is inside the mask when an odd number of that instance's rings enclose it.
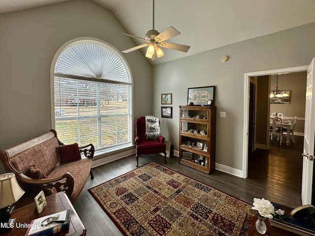
<instances>
[{"instance_id":1,"label":"gray wall behind the wooden bookcase, right of the room corner","mask_svg":"<svg viewBox=\"0 0 315 236\"><path fill-rule=\"evenodd\" d=\"M179 149L179 105L187 89L216 86L216 162L242 170L244 74L308 65L315 56L315 23L230 44L154 66L154 113L160 116L161 93L173 93L173 118L161 118L161 132ZM165 52L167 53L167 52ZM222 62L221 58L229 56ZM226 112L226 118L219 118Z\"/></svg>"}]
</instances>

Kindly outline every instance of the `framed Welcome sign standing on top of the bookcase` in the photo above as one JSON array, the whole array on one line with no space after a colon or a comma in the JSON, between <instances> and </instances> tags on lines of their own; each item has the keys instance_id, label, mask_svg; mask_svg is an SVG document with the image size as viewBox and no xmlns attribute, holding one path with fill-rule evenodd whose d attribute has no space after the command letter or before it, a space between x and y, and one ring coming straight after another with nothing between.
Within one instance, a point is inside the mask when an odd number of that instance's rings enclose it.
<instances>
[{"instance_id":1,"label":"framed Welcome sign standing on top of the bookcase","mask_svg":"<svg viewBox=\"0 0 315 236\"><path fill-rule=\"evenodd\" d=\"M187 105L213 106L215 99L215 86L189 88L187 95Z\"/></svg>"}]
</instances>

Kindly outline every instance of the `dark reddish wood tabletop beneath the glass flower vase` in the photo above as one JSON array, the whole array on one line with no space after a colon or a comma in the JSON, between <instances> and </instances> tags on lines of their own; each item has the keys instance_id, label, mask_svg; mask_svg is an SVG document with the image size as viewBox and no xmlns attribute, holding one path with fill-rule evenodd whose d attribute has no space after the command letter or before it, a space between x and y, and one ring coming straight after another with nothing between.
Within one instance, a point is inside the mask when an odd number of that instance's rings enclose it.
<instances>
[{"instance_id":1,"label":"dark reddish wood tabletop beneath the glass flower vase","mask_svg":"<svg viewBox=\"0 0 315 236\"><path fill-rule=\"evenodd\" d=\"M262 236L259 234L255 227L255 222L257 220L257 216L252 217L251 228L248 231L248 236ZM267 232L264 234L265 236L298 236L292 232L286 231L284 229L280 229L278 227L272 226L269 220L265 220L267 226Z\"/></svg>"}]
</instances>

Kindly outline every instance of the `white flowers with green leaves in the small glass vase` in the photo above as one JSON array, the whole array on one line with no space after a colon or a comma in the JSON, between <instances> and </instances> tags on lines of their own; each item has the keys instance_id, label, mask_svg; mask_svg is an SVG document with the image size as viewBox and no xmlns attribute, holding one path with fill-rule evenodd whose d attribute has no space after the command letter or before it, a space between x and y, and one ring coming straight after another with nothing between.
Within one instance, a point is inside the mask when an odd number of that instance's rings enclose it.
<instances>
[{"instance_id":1,"label":"white flowers with green leaves in the small glass vase","mask_svg":"<svg viewBox=\"0 0 315 236\"><path fill-rule=\"evenodd\" d=\"M275 214L279 215L280 220L282 221L285 217L284 210L278 209L275 210L275 207L268 200L262 198L254 198L252 203L252 209L256 210L258 214L263 218L272 219Z\"/></svg>"}]
</instances>

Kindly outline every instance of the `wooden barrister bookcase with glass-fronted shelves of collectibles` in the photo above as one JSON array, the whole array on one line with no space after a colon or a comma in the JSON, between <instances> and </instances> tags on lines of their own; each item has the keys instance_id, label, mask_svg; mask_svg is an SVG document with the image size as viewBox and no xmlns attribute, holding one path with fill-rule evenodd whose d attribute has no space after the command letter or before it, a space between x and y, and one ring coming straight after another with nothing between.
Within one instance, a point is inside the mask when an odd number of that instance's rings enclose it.
<instances>
[{"instance_id":1,"label":"wooden barrister bookcase with glass-fronted shelves of collectibles","mask_svg":"<svg viewBox=\"0 0 315 236\"><path fill-rule=\"evenodd\" d=\"M180 106L179 162L204 173L215 169L216 107Z\"/></svg>"}]
</instances>

